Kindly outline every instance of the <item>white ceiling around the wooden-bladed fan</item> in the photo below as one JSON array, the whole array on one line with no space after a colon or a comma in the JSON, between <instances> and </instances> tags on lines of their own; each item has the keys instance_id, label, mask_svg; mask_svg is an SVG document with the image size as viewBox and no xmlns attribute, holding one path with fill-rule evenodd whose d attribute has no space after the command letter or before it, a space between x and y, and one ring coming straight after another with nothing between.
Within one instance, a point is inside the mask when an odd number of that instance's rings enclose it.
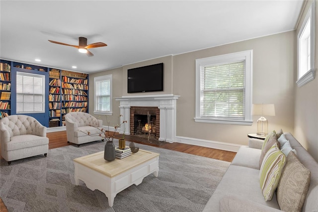
<instances>
[{"instance_id":1,"label":"white ceiling around the wooden-bladed fan","mask_svg":"<svg viewBox=\"0 0 318 212\"><path fill-rule=\"evenodd\" d=\"M294 30L303 0L0 0L0 58L93 73ZM93 57L74 47L91 49ZM35 62L40 58L41 62ZM77 69L72 69L72 66Z\"/></svg>"}]
</instances>

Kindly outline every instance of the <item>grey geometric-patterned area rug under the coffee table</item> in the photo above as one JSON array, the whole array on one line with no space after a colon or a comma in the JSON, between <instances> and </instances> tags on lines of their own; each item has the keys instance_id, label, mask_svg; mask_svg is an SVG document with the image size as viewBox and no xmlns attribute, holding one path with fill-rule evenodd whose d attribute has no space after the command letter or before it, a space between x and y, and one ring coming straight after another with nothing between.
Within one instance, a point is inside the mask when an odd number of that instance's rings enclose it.
<instances>
[{"instance_id":1,"label":"grey geometric-patterned area rug under the coffee table","mask_svg":"<svg viewBox=\"0 0 318 212\"><path fill-rule=\"evenodd\" d=\"M118 145L118 140L114 141ZM103 151L96 141L50 149L48 156L0 161L0 197L9 212L200 212L230 163L136 144L158 152L159 176L117 194L113 207L100 191L75 185L73 159ZM129 142L126 143L129 145Z\"/></svg>"}]
</instances>

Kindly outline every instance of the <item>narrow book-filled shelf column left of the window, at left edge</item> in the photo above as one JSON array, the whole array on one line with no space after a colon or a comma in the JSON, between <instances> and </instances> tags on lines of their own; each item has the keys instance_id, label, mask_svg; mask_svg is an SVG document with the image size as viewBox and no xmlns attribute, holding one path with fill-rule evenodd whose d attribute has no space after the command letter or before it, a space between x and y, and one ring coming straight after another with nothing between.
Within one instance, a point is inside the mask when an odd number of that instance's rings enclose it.
<instances>
[{"instance_id":1,"label":"narrow book-filled shelf column left of the window, at left edge","mask_svg":"<svg viewBox=\"0 0 318 212\"><path fill-rule=\"evenodd\" d=\"M0 60L0 119L11 114L11 63Z\"/></svg>"}]
</instances>

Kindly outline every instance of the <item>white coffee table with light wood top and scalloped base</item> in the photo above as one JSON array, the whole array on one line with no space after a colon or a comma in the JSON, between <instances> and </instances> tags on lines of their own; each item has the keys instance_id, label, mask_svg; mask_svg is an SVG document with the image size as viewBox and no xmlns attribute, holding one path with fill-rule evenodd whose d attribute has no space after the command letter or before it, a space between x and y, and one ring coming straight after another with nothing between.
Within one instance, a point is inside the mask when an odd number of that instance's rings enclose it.
<instances>
[{"instance_id":1,"label":"white coffee table with light wood top and scalloped base","mask_svg":"<svg viewBox=\"0 0 318 212\"><path fill-rule=\"evenodd\" d=\"M135 184L138 186L143 179L154 173L158 177L159 154L140 149L123 159L104 160L104 151L74 159L75 184L79 180L94 191L103 192L108 198L110 207L116 195Z\"/></svg>"}]
</instances>

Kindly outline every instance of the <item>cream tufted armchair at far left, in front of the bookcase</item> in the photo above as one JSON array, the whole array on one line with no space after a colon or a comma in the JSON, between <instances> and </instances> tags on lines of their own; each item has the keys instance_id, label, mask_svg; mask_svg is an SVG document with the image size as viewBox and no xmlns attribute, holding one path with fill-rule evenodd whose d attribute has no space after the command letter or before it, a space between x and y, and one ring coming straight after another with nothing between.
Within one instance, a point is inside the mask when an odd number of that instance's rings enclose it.
<instances>
[{"instance_id":1,"label":"cream tufted armchair at far left, in front of the bookcase","mask_svg":"<svg viewBox=\"0 0 318 212\"><path fill-rule=\"evenodd\" d=\"M46 127L28 115L9 115L0 121L1 156L11 161L44 154L49 151Z\"/></svg>"}]
</instances>

